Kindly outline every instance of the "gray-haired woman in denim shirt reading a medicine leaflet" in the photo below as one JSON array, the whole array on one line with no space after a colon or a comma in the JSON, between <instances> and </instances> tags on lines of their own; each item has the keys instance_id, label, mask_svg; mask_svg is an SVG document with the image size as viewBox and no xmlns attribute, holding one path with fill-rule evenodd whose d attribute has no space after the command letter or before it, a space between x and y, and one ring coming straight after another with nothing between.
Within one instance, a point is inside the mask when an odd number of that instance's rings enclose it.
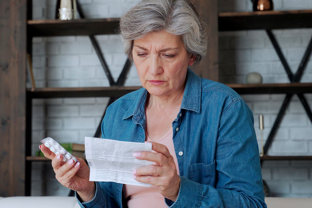
<instances>
[{"instance_id":1,"label":"gray-haired woman in denim shirt reading a medicine leaflet","mask_svg":"<svg viewBox=\"0 0 312 208\"><path fill-rule=\"evenodd\" d=\"M253 114L232 89L198 77L207 37L188 0L143 0L120 20L126 55L142 89L107 108L102 138L151 142L135 152L154 165L135 180L152 187L89 181L89 169L64 164L48 148L56 178L81 207L266 207Z\"/></svg>"}]
</instances>

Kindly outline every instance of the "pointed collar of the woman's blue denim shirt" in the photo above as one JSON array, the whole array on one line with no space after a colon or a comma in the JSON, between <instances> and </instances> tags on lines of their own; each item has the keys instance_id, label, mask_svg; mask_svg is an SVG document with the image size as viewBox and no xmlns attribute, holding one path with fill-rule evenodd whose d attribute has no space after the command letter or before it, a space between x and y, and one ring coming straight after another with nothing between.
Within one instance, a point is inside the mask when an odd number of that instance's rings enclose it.
<instances>
[{"instance_id":1,"label":"pointed collar of the woman's blue denim shirt","mask_svg":"<svg viewBox=\"0 0 312 208\"><path fill-rule=\"evenodd\" d=\"M181 109L192 110L196 113L200 113L201 92L201 78L188 68ZM134 99L134 102L124 114L123 119L127 119L133 116L133 122L138 123L145 116L146 96L147 90L144 88L139 89L137 97Z\"/></svg>"}]
</instances>

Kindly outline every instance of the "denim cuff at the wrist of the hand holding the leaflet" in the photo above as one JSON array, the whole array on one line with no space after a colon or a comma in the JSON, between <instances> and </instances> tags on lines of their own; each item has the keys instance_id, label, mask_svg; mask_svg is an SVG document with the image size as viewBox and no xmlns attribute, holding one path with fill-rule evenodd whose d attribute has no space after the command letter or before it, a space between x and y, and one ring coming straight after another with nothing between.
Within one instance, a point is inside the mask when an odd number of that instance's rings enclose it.
<instances>
[{"instance_id":1,"label":"denim cuff at the wrist of the hand holding the leaflet","mask_svg":"<svg viewBox=\"0 0 312 208\"><path fill-rule=\"evenodd\" d=\"M180 177L180 189L175 202L165 198L165 203L170 208L199 207L202 199L202 186L183 176Z\"/></svg>"}]
</instances>

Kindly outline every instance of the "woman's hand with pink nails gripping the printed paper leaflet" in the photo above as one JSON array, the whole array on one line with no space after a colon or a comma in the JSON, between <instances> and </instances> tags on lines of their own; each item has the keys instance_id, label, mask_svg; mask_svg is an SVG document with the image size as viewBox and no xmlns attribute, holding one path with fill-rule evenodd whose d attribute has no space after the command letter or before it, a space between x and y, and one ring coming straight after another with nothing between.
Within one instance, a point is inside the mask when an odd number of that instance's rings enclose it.
<instances>
[{"instance_id":1,"label":"woman's hand with pink nails gripping the printed paper leaflet","mask_svg":"<svg viewBox=\"0 0 312 208\"><path fill-rule=\"evenodd\" d=\"M158 186L159 192L165 198L176 201L180 189L178 176L173 157L163 144L152 143L154 152L135 152L133 156L139 160L155 162L156 165L140 167L132 172L135 180Z\"/></svg>"}]
</instances>

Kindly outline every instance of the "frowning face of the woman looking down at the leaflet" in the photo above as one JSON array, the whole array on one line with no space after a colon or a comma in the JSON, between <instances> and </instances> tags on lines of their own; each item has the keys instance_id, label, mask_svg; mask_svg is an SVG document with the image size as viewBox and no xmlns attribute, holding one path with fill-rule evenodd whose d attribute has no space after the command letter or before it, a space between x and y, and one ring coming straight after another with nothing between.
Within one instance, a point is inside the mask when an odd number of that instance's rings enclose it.
<instances>
[{"instance_id":1,"label":"frowning face of the woman looking down at the leaflet","mask_svg":"<svg viewBox=\"0 0 312 208\"><path fill-rule=\"evenodd\" d=\"M188 65L195 60L180 36L165 31L134 40L132 55L142 86L157 97L183 92Z\"/></svg>"}]
</instances>

